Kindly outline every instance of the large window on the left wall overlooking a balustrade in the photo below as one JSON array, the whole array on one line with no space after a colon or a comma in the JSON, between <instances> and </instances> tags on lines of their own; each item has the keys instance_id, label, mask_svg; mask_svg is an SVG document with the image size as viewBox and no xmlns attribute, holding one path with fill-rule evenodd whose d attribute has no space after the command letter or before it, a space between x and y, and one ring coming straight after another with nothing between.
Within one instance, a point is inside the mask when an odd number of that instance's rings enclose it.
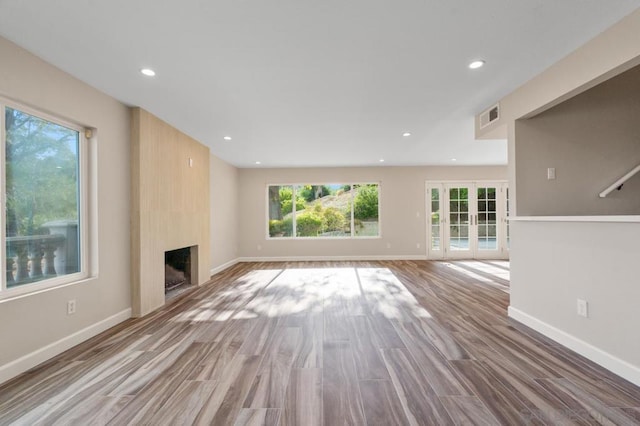
<instances>
[{"instance_id":1,"label":"large window on the left wall overlooking a balustrade","mask_svg":"<svg viewBox=\"0 0 640 426\"><path fill-rule=\"evenodd\" d=\"M83 130L23 107L0 106L4 298L83 276L86 197Z\"/></svg>"}]
</instances>

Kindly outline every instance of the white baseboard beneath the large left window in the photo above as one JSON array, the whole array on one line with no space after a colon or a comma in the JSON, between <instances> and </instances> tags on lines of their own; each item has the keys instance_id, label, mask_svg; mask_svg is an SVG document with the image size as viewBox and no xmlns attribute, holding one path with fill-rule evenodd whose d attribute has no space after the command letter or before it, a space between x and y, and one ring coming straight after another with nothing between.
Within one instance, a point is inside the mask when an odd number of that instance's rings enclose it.
<instances>
[{"instance_id":1,"label":"white baseboard beneath the large left window","mask_svg":"<svg viewBox=\"0 0 640 426\"><path fill-rule=\"evenodd\" d=\"M0 384L131 318L131 308L0 366Z\"/></svg>"}]
</instances>

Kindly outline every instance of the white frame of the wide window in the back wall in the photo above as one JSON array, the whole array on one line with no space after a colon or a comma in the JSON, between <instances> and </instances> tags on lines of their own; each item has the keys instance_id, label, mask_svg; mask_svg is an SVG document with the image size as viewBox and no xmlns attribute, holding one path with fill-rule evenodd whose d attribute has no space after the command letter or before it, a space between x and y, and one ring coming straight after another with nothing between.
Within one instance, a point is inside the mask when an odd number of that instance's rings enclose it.
<instances>
[{"instance_id":1,"label":"white frame of the wide window in the back wall","mask_svg":"<svg viewBox=\"0 0 640 426\"><path fill-rule=\"evenodd\" d=\"M355 204L355 195L351 197L351 233L348 236L340 236L340 237L301 237L297 235L297 224L296 224L296 206L295 206L295 197L296 197L296 188L297 187L302 187L304 185L312 185L312 186L331 186L331 185L350 185L351 188L354 188L357 185L377 185L378 186L378 235L373 235L373 236L358 236L355 235L355 220L354 220L354 214L355 214L355 209L354 209L354 204ZM272 237L269 234L269 188L272 186L277 186L277 187L283 187L283 186L291 186L292 187L292 211L291 213L293 214L293 235L291 235L290 237ZM266 240L280 240L280 241L291 241L291 240L375 240L375 239L380 239L382 238L382 182L378 181L378 182L372 182L372 181L365 181L365 182L324 182L324 183L317 183L317 182L305 182L305 183L267 183L265 185L265 239Z\"/></svg>"}]
</instances>

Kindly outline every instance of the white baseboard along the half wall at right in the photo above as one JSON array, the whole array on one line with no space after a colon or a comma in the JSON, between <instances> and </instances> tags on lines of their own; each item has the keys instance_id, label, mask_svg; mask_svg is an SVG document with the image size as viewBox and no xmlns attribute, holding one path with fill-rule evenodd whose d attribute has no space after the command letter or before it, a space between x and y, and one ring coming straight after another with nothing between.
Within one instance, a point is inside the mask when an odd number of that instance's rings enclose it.
<instances>
[{"instance_id":1,"label":"white baseboard along the half wall at right","mask_svg":"<svg viewBox=\"0 0 640 426\"><path fill-rule=\"evenodd\" d=\"M546 322L522 312L521 310L509 306L509 317L526 325L535 331L544 334L551 340L579 353L585 358L617 374L618 376L640 386L640 367L621 360L608 352L603 351L590 343L580 340L577 337L562 331Z\"/></svg>"}]
</instances>

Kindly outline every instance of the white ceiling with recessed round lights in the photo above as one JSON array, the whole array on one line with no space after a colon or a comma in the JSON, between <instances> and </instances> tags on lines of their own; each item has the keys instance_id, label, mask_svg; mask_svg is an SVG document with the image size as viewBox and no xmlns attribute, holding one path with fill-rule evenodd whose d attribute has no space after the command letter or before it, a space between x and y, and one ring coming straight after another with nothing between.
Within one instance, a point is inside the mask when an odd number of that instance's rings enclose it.
<instances>
[{"instance_id":1,"label":"white ceiling with recessed round lights","mask_svg":"<svg viewBox=\"0 0 640 426\"><path fill-rule=\"evenodd\" d=\"M638 7L0 0L0 35L238 167L484 165L506 142L474 140L474 115Z\"/></svg>"}]
</instances>

